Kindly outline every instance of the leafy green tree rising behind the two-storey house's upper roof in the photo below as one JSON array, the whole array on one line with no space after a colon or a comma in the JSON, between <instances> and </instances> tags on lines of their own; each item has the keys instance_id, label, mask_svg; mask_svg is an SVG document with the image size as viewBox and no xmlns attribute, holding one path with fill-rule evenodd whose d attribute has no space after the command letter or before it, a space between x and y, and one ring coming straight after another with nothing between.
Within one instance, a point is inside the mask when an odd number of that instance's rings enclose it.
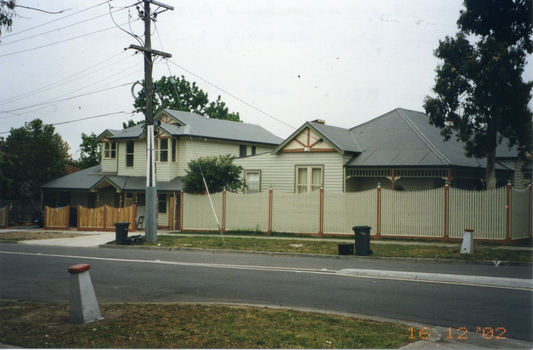
<instances>
[{"instance_id":1,"label":"leafy green tree rising behind the two-storey house's upper roof","mask_svg":"<svg viewBox=\"0 0 533 350\"><path fill-rule=\"evenodd\" d=\"M144 81L143 81L144 85ZM146 93L144 88L139 91L133 106L137 112L146 112ZM214 119L240 121L239 113L230 113L220 96L214 102L209 102L208 94L185 80L184 76L162 77L155 83L153 90L154 115L165 108L186 111L208 116Z\"/></svg>"}]
</instances>

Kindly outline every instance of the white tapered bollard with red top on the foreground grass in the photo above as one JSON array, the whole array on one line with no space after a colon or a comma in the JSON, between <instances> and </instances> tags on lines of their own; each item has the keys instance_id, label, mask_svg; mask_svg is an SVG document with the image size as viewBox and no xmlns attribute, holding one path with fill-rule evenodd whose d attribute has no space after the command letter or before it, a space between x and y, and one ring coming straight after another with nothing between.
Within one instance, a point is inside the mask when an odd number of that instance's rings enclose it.
<instances>
[{"instance_id":1,"label":"white tapered bollard with red top on the foreground grass","mask_svg":"<svg viewBox=\"0 0 533 350\"><path fill-rule=\"evenodd\" d=\"M90 323L103 319L94 294L88 264L78 264L68 268L70 273L70 310L72 323Z\"/></svg>"}]
</instances>

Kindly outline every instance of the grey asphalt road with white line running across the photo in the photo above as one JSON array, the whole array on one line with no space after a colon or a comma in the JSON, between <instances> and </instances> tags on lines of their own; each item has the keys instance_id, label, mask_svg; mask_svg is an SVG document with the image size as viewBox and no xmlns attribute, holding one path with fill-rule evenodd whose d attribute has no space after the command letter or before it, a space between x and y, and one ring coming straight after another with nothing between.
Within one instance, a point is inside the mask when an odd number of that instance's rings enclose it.
<instances>
[{"instance_id":1,"label":"grey asphalt road with white line running across the photo","mask_svg":"<svg viewBox=\"0 0 533 350\"><path fill-rule=\"evenodd\" d=\"M91 265L101 303L226 302L385 317L533 341L532 292L346 276L381 269L531 278L531 267L0 244L0 298L68 302L67 268Z\"/></svg>"}]
</instances>

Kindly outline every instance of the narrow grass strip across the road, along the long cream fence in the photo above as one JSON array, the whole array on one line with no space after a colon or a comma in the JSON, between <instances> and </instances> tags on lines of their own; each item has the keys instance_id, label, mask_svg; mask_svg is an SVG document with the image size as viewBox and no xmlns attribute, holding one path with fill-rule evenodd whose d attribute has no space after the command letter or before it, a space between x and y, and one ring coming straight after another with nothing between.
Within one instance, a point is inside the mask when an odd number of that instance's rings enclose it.
<instances>
[{"instance_id":1,"label":"narrow grass strip across the road, along the long cream fence","mask_svg":"<svg viewBox=\"0 0 533 350\"><path fill-rule=\"evenodd\" d=\"M264 237L264 236L263 236ZM292 236L294 237L294 236ZM347 240L347 243L353 242ZM246 237L224 237L194 235L192 237L158 235L157 242L144 243L146 246L161 246L174 248L197 249L227 249L259 252L284 252L302 254L338 254L337 242L302 240L261 239ZM371 242L372 256L392 258L426 258L426 259L459 259L459 260L497 260L532 262L533 255L530 251L513 251L483 247L476 249L474 254L461 254L460 245L443 247L437 245L402 245L402 244L374 244Z\"/></svg>"}]
</instances>

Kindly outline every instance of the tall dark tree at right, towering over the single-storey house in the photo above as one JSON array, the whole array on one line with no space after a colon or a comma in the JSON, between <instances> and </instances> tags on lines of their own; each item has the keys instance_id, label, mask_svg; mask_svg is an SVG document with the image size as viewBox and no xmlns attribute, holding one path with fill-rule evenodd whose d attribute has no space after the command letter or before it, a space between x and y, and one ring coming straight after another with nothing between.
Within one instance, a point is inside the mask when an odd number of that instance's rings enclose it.
<instances>
[{"instance_id":1,"label":"tall dark tree at right, towering over the single-storey house","mask_svg":"<svg viewBox=\"0 0 533 350\"><path fill-rule=\"evenodd\" d=\"M530 0L465 0L454 38L439 42L435 56L435 98L426 96L430 123L452 128L465 143L466 155L487 158L487 188L496 187L496 147L506 140L519 155L531 149L528 108L533 82L522 75L533 51Z\"/></svg>"}]
</instances>

